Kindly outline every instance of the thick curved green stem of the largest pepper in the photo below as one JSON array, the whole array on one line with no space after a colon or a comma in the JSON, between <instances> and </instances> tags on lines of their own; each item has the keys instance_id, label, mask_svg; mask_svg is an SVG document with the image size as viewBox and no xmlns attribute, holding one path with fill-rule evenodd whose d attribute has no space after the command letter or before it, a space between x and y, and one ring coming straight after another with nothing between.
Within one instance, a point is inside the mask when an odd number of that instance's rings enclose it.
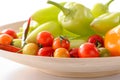
<instances>
[{"instance_id":1,"label":"thick curved green stem of the largest pepper","mask_svg":"<svg viewBox=\"0 0 120 80\"><path fill-rule=\"evenodd\" d=\"M47 3L52 4L52 5L56 6L56 7L58 7L59 9L62 10L62 12L63 12L65 15L68 15L68 14L70 13L70 10L69 10L69 9L63 7L62 5L60 5L60 4L56 3L56 2L53 2L53 1L51 1L51 0L48 0Z\"/></svg>"}]
</instances>

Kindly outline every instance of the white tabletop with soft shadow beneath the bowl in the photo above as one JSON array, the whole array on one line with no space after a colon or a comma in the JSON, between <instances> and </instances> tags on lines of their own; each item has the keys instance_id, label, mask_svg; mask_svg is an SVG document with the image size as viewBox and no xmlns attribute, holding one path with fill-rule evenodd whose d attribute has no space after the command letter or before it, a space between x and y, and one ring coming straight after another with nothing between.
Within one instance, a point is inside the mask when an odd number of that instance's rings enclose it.
<instances>
[{"instance_id":1,"label":"white tabletop with soft shadow beneath the bowl","mask_svg":"<svg viewBox=\"0 0 120 80\"><path fill-rule=\"evenodd\" d=\"M0 80L120 80L120 74L101 78L65 78L0 58Z\"/></svg>"}]
</instances>

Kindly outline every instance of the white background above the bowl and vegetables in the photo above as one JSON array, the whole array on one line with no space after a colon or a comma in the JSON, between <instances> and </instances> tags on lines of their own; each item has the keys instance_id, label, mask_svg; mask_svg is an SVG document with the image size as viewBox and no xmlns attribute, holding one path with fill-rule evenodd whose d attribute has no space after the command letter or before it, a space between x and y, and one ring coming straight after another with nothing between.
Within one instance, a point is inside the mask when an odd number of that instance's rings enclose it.
<instances>
[{"instance_id":1,"label":"white background above the bowl and vegetables","mask_svg":"<svg viewBox=\"0 0 120 80\"><path fill-rule=\"evenodd\" d=\"M47 0L0 0L0 24L6 24L23 19L28 19L36 10L45 7ZM53 0L77 1L90 9L97 2L106 3L109 0ZM110 11L120 11L119 0L110 5Z\"/></svg>"}]
</instances>

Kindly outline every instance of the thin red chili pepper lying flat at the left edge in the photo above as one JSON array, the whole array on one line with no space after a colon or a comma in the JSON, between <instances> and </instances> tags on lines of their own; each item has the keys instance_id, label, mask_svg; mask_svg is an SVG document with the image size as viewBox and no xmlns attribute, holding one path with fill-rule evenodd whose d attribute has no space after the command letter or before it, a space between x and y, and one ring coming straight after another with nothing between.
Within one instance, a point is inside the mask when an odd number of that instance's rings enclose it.
<instances>
[{"instance_id":1,"label":"thin red chili pepper lying flat at the left edge","mask_svg":"<svg viewBox=\"0 0 120 80\"><path fill-rule=\"evenodd\" d=\"M18 52L21 50L21 48L18 48L12 45L3 45L3 44L0 44L0 49L10 51L10 52Z\"/></svg>"}]
</instances>

